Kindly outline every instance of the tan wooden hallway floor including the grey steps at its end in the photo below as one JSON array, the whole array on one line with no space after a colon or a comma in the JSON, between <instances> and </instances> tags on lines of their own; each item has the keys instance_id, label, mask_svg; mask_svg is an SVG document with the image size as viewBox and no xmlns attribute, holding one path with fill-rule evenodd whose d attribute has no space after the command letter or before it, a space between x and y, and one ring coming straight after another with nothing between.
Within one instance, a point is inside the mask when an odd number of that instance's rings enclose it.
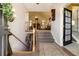
<instances>
[{"instance_id":1,"label":"tan wooden hallway floor including the grey steps at its end","mask_svg":"<svg viewBox=\"0 0 79 59\"><path fill-rule=\"evenodd\" d=\"M29 54L16 54L12 56L73 56L66 49L58 46L50 33L50 31L37 31L36 36L36 52Z\"/></svg>"}]
</instances>

